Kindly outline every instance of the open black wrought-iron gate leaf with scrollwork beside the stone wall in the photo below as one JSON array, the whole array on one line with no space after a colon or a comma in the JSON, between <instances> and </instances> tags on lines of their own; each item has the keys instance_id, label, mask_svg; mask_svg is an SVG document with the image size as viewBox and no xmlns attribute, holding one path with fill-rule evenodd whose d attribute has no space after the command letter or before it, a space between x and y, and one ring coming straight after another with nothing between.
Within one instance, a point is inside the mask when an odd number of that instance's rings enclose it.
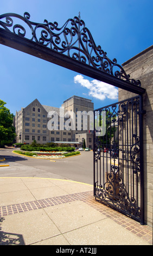
<instances>
[{"instance_id":1,"label":"open black wrought-iron gate leaf with scrollwork beside the stone wall","mask_svg":"<svg viewBox=\"0 0 153 256\"><path fill-rule=\"evenodd\" d=\"M141 96L94 111L94 197L144 224L142 115Z\"/></svg>"}]
</instances>

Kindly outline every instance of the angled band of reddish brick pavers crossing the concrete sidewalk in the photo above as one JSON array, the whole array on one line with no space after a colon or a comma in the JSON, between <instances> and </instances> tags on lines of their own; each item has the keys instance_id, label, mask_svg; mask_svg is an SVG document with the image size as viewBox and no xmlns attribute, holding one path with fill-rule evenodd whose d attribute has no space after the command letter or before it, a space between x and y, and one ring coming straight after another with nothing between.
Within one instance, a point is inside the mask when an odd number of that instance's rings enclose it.
<instances>
[{"instance_id":1,"label":"angled band of reddish brick pavers crossing the concrete sidewalk","mask_svg":"<svg viewBox=\"0 0 153 256\"><path fill-rule=\"evenodd\" d=\"M76 200L81 200L82 202L90 205L95 210L99 211L101 214L106 217L110 217L111 220L121 225L123 228L127 229L131 233L141 237L146 242L152 245L152 228L148 225L141 225L140 223L132 220L130 217L127 217L120 212L115 211L108 206L101 204L93 197L93 192L81 192L69 194L66 196L58 196L52 198L46 198L41 200L35 200L27 203L21 204L12 204L0 207L0 217L18 214L20 212L37 210L42 208L47 208L49 206L54 206L58 204L64 204Z\"/></svg>"}]
</instances>

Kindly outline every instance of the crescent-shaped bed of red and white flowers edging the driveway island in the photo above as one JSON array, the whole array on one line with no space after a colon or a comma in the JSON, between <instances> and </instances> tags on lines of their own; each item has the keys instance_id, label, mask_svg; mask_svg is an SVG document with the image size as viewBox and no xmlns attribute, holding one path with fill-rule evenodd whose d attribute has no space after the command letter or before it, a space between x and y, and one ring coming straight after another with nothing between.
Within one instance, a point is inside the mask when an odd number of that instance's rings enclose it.
<instances>
[{"instance_id":1,"label":"crescent-shaped bed of red and white flowers edging the driveway island","mask_svg":"<svg viewBox=\"0 0 153 256\"><path fill-rule=\"evenodd\" d=\"M80 155L79 151L67 152L67 151L21 151L14 150L13 153L34 157L36 159L65 159L66 157Z\"/></svg>"}]
</instances>

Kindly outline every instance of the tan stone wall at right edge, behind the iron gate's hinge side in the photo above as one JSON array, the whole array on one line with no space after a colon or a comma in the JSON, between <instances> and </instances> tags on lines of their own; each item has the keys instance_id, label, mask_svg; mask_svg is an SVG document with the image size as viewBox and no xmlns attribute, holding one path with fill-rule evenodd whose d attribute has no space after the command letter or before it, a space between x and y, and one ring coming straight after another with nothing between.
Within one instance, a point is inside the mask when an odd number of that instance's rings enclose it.
<instances>
[{"instance_id":1,"label":"tan stone wall at right edge, behind the iron gate's hinge side","mask_svg":"<svg viewBox=\"0 0 153 256\"><path fill-rule=\"evenodd\" d=\"M146 89L143 95L143 109L146 111L143 119L144 136L144 211L145 223L152 227L153 215L153 45L122 64L126 74L141 81ZM119 89L119 101L136 94Z\"/></svg>"}]
</instances>

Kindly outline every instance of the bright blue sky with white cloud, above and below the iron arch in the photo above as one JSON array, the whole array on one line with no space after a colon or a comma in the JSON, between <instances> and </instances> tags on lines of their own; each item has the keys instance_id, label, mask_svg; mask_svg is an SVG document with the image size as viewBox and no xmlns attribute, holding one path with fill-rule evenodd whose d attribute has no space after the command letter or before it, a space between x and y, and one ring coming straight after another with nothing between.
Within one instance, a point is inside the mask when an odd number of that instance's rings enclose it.
<instances>
[{"instance_id":1,"label":"bright blue sky with white cloud, above and below the iron arch","mask_svg":"<svg viewBox=\"0 0 153 256\"><path fill-rule=\"evenodd\" d=\"M81 14L95 44L118 64L152 45L152 0L1 0L0 15L27 11L30 21L58 22ZM86 97L94 108L117 102L118 90L45 60L0 45L0 99L11 113L35 99L42 105L60 107L72 95Z\"/></svg>"}]
</instances>

